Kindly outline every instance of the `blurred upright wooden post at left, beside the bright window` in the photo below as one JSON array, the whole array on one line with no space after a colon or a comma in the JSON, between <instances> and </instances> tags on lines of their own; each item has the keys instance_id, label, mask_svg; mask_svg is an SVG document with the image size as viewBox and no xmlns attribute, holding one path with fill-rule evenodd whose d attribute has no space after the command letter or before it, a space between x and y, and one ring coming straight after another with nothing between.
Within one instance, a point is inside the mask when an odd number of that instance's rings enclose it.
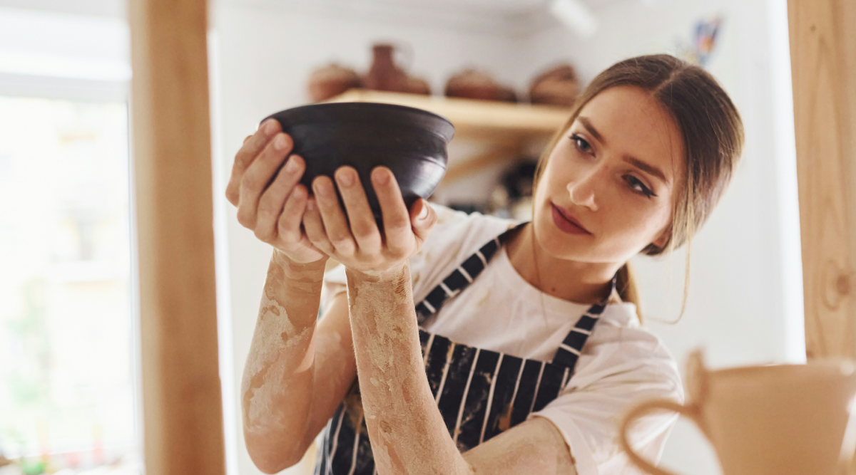
<instances>
[{"instance_id":1,"label":"blurred upright wooden post at left, beside the bright window","mask_svg":"<svg viewBox=\"0 0 856 475\"><path fill-rule=\"evenodd\" d=\"M205 0L129 3L146 473L225 473Z\"/></svg>"}]
</instances>

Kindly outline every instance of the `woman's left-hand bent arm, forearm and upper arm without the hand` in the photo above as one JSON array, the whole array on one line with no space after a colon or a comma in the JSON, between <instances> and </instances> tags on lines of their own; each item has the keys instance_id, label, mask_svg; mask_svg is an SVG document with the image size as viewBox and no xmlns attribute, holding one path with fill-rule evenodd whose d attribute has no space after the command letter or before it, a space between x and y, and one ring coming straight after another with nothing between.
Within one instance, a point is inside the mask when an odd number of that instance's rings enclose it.
<instances>
[{"instance_id":1,"label":"woman's left-hand bent arm, forearm and upper arm without the hand","mask_svg":"<svg viewBox=\"0 0 856 475\"><path fill-rule=\"evenodd\" d=\"M356 375L344 294L316 325L323 276L324 261L270 259L241 381L244 438L263 472L300 461Z\"/></svg>"}]
</instances>

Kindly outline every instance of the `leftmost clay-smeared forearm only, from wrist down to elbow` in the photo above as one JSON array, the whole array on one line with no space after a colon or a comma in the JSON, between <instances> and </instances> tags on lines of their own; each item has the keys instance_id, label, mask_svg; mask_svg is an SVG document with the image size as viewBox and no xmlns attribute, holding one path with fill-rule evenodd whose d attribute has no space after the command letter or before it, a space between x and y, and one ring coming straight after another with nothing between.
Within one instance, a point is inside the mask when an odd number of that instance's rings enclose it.
<instances>
[{"instance_id":1,"label":"leftmost clay-smeared forearm only, from wrist down to elbow","mask_svg":"<svg viewBox=\"0 0 856 475\"><path fill-rule=\"evenodd\" d=\"M323 279L324 260L298 265L273 251L241 383L251 455L300 449L312 401L312 332Z\"/></svg>"}]
</instances>

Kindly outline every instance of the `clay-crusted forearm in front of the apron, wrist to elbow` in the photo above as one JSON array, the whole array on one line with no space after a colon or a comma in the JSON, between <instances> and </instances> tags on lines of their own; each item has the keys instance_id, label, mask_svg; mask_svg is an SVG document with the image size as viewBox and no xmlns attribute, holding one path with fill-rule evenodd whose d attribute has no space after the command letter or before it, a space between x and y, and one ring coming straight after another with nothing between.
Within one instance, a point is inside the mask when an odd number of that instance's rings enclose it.
<instances>
[{"instance_id":1,"label":"clay-crusted forearm in front of the apron, wrist to elbow","mask_svg":"<svg viewBox=\"0 0 856 475\"><path fill-rule=\"evenodd\" d=\"M377 472L469 474L425 379L410 270L348 271L360 392Z\"/></svg>"}]
</instances>

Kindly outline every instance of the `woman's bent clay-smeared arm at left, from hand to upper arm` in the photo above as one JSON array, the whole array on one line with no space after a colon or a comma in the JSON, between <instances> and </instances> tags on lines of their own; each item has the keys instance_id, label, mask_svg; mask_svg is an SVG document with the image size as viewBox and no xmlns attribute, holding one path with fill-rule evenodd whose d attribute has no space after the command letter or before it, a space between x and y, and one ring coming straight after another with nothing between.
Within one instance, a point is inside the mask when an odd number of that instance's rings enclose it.
<instances>
[{"instance_id":1,"label":"woman's bent clay-smeared arm at left, from hand to upper arm","mask_svg":"<svg viewBox=\"0 0 856 475\"><path fill-rule=\"evenodd\" d=\"M235 155L226 187L241 226L274 248L241 383L247 450L268 473L300 461L356 373L345 296L316 328L327 255L300 228L306 163L291 145L266 121Z\"/></svg>"}]
</instances>

